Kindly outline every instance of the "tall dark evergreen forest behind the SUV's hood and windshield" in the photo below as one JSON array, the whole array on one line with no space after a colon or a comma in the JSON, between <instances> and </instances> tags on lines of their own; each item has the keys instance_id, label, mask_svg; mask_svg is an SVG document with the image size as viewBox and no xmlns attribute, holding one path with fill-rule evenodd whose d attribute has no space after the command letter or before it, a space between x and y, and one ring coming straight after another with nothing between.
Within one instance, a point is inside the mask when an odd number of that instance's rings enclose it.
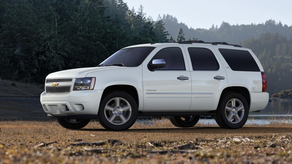
<instances>
[{"instance_id":1,"label":"tall dark evergreen forest behind the SUV's hood and windshield","mask_svg":"<svg viewBox=\"0 0 292 164\"><path fill-rule=\"evenodd\" d=\"M168 35L160 16L123 0L2 0L0 77L43 83L48 73L95 67L123 47Z\"/></svg>"}]
</instances>

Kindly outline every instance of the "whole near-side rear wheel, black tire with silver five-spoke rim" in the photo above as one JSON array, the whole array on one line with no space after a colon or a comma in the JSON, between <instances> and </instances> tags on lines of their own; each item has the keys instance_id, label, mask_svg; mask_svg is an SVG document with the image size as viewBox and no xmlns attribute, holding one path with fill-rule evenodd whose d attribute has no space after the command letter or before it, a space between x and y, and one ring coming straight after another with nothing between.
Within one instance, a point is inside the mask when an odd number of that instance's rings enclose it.
<instances>
[{"instance_id":1,"label":"whole near-side rear wheel, black tire with silver five-spoke rim","mask_svg":"<svg viewBox=\"0 0 292 164\"><path fill-rule=\"evenodd\" d=\"M217 124L225 129L241 128L247 121L248 117L249 105L246 99L236 92L225 94L220 99L214 116Z\"/></svg>"}]
</instances>

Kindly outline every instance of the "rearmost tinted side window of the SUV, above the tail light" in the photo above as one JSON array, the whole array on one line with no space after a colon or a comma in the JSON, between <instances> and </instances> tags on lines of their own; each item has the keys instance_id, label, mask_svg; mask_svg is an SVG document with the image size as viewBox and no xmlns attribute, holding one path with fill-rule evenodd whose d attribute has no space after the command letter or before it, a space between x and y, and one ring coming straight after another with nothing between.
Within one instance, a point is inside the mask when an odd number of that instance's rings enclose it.
<instances>
[{"instance_id":1,"label":"rearmost tinted side window of the SUV, above the tail light","mask_svg":"<svg viewBox=\"0 0 292 164\"><path fill-rule=\"evenodd\" d=\"M259 66L255 62L252 54L246 50L233 50L219 48L220 53L234 71L259 72Z\"/></svg>"}]
</instances>

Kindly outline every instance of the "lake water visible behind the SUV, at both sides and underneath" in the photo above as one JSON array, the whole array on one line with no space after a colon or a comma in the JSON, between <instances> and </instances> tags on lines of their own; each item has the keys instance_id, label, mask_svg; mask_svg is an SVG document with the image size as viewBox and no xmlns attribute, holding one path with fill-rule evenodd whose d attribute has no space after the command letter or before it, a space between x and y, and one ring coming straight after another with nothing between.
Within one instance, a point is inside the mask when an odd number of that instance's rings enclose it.
<instances>
[{"instance_id":1,"label":"lake water visible behind the SUV, at both sides and underneath","mask_svg":"<svg viewBox=\"0 0 292 164\"><path fill-rule=\"evenodd\" d=\"M0 120L47 120L39 97L0 97ZM145 122L146 121L146 122ZM150 123L139 119L137 122ZM216 124L214 119L200 119L206 125ZM247 124L265 125L273 122L292 123L292 101L272 101L265 109L249 113Z\"/></svg>"}]
</instances>

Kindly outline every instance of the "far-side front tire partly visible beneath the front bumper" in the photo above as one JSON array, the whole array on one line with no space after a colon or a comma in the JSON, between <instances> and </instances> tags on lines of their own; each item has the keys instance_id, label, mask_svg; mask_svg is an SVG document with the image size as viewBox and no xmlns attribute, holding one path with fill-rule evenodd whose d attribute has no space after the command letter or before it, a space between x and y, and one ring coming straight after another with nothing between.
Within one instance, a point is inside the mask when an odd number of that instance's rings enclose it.
<instances>
[{"instance_id":1,"label":"far-side front tire partly visible beneath the front bumper","mask_svg":"<svg viewBox=\"0 0 292 164\"><path fill-rule=\"evenodd\" d=\"M58 123L67 129L80 129L85 127L90 120L57 119Z\"/></svg>"}]
</instances>

